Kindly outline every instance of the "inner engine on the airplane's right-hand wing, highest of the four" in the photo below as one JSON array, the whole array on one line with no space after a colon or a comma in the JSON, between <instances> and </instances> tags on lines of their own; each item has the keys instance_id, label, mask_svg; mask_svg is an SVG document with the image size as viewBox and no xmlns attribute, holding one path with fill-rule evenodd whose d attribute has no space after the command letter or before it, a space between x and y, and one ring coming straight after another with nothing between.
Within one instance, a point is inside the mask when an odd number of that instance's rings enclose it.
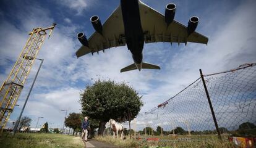
<instances>
[{"instance_id":1,"label":"inner engine on the airplane's right-hand wing, highest of the four","mask_svg":"<svg viewBox=\"0 0 256 148\"><path fill-rule=\"evenodd\" d=\"M164 18L165 18L165 22L167 23L167 25L169 25L171 22L173 22L175 11L176 11L175 4L170 3L170 4L166 5Z\"/></svg>"}]
</instances>

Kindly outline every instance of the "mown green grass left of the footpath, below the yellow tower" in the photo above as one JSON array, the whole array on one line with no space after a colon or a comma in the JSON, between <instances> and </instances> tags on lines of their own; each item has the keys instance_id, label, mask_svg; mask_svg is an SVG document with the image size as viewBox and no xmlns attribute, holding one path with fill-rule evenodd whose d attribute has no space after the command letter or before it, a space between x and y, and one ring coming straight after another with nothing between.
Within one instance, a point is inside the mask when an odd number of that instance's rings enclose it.
<instances>
[{"instance_id":1,"label":"mown green grass left of the footpath, below the yellow tower","mask_svg":"<svg viewBox=\"0 0 256 148\"><path fill-rule=\"evenodd\" d=\"M45 133L17 133L15 136L9 133L2 133L0 136L1 148L82 148L85 147L80 137L67 136L63 134Z\"/></svg>"}]
</instances>

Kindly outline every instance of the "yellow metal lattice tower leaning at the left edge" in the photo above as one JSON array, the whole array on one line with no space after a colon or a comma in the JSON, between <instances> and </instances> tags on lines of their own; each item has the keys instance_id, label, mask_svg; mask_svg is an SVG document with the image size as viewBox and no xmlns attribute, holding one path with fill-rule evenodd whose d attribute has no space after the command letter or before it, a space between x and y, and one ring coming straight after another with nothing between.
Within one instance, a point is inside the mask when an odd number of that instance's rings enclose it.
<instances>
[{"instance_id":1,"label":"yellow metal lattice tower leaning at the left edge","mask_svg":"<svg viewBox=\"0 0 256 148\"><path fill-rule=\"evenodd\" d=\"M14 106L20 96L23 85L35 62L36 55L38 55L41 45L43 44L43 41L45 41L46 31L50 30L49 36L51 36L55 26L56 23L53 23L51 27L35 28L32 32L28 33L30 36L27 43L23 47L8 78L2 83L0 89L0 132L4 130L12 111L14 110Z\"/></svg>"}]
</instances>

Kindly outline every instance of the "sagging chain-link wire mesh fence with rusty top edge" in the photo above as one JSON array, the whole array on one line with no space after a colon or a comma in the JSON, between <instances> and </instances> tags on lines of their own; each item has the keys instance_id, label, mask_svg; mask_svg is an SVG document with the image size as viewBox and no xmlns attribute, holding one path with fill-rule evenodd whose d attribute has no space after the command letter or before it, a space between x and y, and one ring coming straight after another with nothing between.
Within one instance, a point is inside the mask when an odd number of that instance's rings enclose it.
<instances>
[{"instance_id":1,"label":"sagging chain-link wire mesh fence with rusty top edge","mask_svg":"<svg viewBox=\"0 0 256 148\"><path fill-rule=\"evenodd\" d=\"M256 64L203 75L221 138L256 136ZM124 123L126 128L127 123ZM134 138L161 141L218 139L201 78L131 121Z\"/></svg>"}]
</instances>

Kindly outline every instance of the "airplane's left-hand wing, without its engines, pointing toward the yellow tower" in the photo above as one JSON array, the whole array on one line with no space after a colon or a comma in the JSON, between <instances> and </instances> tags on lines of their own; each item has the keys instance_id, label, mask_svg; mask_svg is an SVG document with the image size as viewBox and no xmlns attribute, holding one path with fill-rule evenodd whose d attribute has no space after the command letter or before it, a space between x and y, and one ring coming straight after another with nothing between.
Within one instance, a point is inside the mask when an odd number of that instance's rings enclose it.
<instances>
[{"instance_id":1,"label":"airplane's left-hand wing, without its engines, pointing toward the yellow tower","mask_svg":"<svg viewBox=\"0 0 256 148\"><path fill-rule=\"evenodd\" d=\"M114 10L113 14L109 16L102 26L102 35L97 32L93 33L93 35L88 39L88 47L82 45L75 53L77 57L81 57L88 53L93 54L94 52L98 53L99 51L104 52L104 49L111 47L126 45L121 6Z\"/></svg>"}]
</instances>

